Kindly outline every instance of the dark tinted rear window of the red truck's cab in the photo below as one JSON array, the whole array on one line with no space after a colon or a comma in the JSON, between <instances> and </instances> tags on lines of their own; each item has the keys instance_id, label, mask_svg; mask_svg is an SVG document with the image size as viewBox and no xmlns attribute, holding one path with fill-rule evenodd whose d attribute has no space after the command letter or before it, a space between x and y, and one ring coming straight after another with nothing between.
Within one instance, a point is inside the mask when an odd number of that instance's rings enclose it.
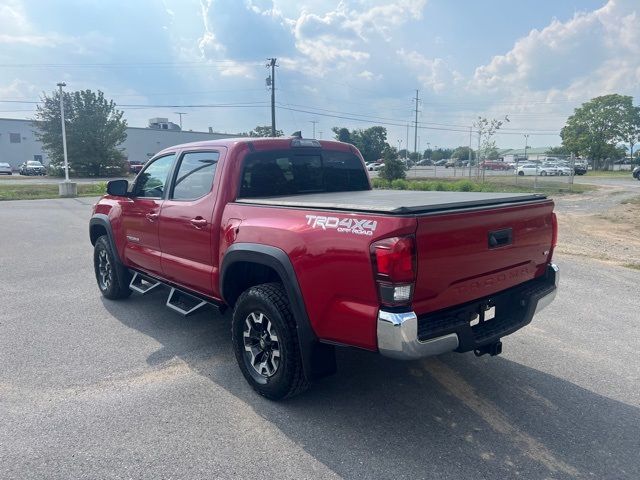
<instances>
[{"instance_id":1,"label":"dark tinted rear window of the red truck's cab","mask_svg":"<svg viewBox=\"0 0 640 480\"><path fill-rule=\"evenodd\" d=\"M244 160L239 197L369 190L358 157L335 151L258 152Z\"/></svg>"}]
</instances>

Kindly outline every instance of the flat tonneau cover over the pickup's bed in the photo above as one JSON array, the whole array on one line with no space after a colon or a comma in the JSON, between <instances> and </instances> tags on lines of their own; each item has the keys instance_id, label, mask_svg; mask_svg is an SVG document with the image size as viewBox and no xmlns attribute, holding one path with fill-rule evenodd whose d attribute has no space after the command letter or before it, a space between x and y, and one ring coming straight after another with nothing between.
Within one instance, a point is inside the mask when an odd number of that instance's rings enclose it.
<instances>
[{"instance_id":1,"label":"flat tonneau cover over the pickup's bed","mask_svg":"<svg viewBox=\"0 0 640 480\"><path fill-rule=\"evenodd\" d=\"M544 200L530 193L422 192L363 190L359 192L309 193L280 197L239 198L238 203L321 210L348 210L402 215L430 213Z\"/></svg>"}]
</instances>

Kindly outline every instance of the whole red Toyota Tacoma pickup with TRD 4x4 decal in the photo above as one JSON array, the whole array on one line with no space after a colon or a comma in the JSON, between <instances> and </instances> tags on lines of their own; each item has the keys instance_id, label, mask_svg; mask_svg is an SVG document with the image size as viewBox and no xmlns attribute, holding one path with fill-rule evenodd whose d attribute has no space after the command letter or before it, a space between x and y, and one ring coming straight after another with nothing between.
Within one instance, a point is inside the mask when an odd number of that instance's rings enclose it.
<instances>
[{"instance_id":1,"label":"whole red Toyota Tacoma pickup with TRD 4x4 decal","mask_svg":"<svg viewBox=\"0 0 640 480\"><path fill-rule=\"evenodd\" d=\"M272 399L333 373L336 346L496 355L558 286L551 200L372 190L345 143L178 145L107 192L89 226L102 294L232 308L240 369Z\"/></svg>"}]
</instances>

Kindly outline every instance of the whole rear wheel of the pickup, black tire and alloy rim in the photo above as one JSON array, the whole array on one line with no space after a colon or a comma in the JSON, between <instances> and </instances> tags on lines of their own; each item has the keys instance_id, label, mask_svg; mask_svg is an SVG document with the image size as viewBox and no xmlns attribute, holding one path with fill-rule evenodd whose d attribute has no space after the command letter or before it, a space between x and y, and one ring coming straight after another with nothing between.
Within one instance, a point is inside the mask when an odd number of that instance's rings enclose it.
<instances>
[{"instance_id":1,"label":"whole rear wheel of the pickup, black tire and alloy rim","mask_svg":"<svg viewBox=\"0 0 640 480\"><path fill-rule=\"evenodd\" d=\"M231 329L240 370L260 395L280 400L309 387L295 320L282 284L256 285L240 295Z\"/></svg>"}]
</instances>

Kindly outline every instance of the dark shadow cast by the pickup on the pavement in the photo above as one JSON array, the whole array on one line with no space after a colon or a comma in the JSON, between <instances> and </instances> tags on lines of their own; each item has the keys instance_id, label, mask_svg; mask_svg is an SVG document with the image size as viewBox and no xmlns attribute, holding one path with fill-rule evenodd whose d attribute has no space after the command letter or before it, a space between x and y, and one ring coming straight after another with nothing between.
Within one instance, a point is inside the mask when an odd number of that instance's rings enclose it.
<instances>
[{"instance_id":1,"label":"dark shadow cast by the pickup on the pavement","mask_svg":"<svg viewBox=\"0 0 640 480\"><path fill-rule=\"evenodd\" d=\"M338 373L271 402L245 383L230 314L182 318L164 294L103 300L124 325L230 392L347 478L640 478L640 410L504 357L399 362L338 350ZM277 461L277 459L274 459Z\"/></svg>"}]
</instances>

